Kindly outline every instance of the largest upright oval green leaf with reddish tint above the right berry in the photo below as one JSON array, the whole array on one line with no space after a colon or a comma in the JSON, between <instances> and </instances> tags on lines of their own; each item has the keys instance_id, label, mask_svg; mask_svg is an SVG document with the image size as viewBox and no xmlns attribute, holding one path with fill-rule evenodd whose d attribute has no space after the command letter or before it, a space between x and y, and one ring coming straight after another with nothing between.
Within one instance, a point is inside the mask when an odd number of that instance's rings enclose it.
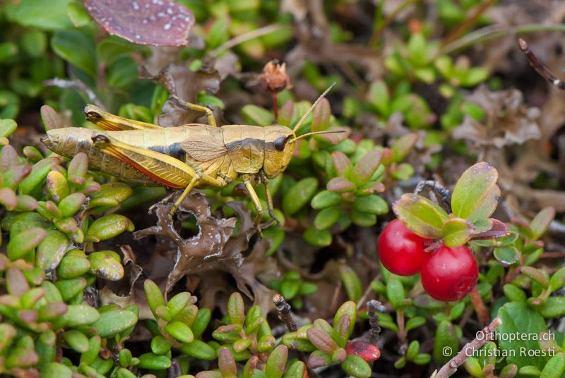
<instances>
[{"instance_id":1,"label":"largest upright oval green leaf with reddish tint above the right berry","mask_svg":"<svg viewBox=\"0 0 565 378\"><path fill-rule=\"evenodd\" d=\"M453 214L471 222L490 217L500 200L498 178L498 171L484 161L463 172L451 196Z\"/></svg>"}]
</instances>

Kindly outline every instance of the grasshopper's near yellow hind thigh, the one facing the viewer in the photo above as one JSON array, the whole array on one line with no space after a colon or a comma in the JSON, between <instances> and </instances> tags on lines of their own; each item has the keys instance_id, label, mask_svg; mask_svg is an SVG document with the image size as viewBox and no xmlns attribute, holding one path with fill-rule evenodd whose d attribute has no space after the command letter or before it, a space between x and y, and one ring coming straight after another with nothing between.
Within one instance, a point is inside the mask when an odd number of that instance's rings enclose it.
<instances>
[{"instance_id":1,"label":"grasshopper's near yellow hind thigh, the one facing the viewer","mask_svg":"<svg viewBox=\"0 0 565 378\"><path fill-rule=\"evenodd\" d=\"M92 139L97 149L170 188L186 188L196 176L191 166L174 157L119 142L107 133L95 133Z\"/></svg>"}]
</instances>

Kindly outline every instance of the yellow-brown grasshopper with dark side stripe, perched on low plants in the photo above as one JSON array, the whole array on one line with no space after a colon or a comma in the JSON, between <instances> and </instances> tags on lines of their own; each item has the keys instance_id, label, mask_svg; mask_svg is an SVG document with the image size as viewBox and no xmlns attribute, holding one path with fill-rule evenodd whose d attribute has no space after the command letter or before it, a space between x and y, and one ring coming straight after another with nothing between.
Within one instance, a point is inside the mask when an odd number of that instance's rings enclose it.
<instances>
[{"instance_id":1,"label":"yellow-brown grasshopper with dark side stripe, perched on low plants","mask_svg":"<svg viewBox=\"0 0 565 378\"><path fill-rule=\"evenodd\" d=\"M278 222L273 213L268 180L285 171L297 140L314 134L343 132L326 130L296 135L333 85L316 99L292 129L278 125L216 126L210 109L172 96L185 109L203 111L208 124L161 127L87 105L84 110L86 119L106 131L57 128L48 130L42 142L49 150L64 157L71 158L84 152L88 155L90 169L108 173L121 181L182 189L182 195L169 212L169 219L192 189L220 188L242 176L257 211L255 226L261 231L259 222L263 207L252 185L254 179L258 178L265 186L268 212Z\"/></svg>"}]
</instances>

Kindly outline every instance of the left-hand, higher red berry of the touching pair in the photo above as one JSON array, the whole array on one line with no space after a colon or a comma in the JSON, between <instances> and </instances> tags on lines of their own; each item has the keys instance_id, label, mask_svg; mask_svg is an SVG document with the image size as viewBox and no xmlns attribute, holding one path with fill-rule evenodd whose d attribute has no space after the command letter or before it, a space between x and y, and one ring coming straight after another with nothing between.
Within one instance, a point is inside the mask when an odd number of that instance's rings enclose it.
<instances>
[{"instance_id":1,"label":"left-hand, higher red berry of the touching pair","mask_svg":"<svg viewBox=\"0 0 565 378\"><path fill-rule=\"evenodd\" d=\"M429 258L429 253L424 252L424 243L427 242L429 239L417 236L395 219L381 232L376 248L386 269L399 276L412 276L420 272Z\"/></svg>"}]
</instances>

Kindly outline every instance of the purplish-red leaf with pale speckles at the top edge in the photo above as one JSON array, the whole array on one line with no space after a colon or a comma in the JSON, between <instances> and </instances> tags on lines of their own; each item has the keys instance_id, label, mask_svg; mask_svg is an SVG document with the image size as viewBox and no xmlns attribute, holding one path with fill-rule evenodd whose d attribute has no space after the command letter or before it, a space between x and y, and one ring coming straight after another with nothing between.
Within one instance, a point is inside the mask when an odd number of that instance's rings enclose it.
<instances>
[{"instance_id":1,"label":"purplish-red leaf with pale speckles at the top edge","mask_svg":"<svg viewBox=\"0 0 565 378\"><path fill-rule=\"evenodd\" d=\"M136 44L186 46L194 14L169 0L83 0L90 16L112 35Z\"/></svg>"}]
</instances>

